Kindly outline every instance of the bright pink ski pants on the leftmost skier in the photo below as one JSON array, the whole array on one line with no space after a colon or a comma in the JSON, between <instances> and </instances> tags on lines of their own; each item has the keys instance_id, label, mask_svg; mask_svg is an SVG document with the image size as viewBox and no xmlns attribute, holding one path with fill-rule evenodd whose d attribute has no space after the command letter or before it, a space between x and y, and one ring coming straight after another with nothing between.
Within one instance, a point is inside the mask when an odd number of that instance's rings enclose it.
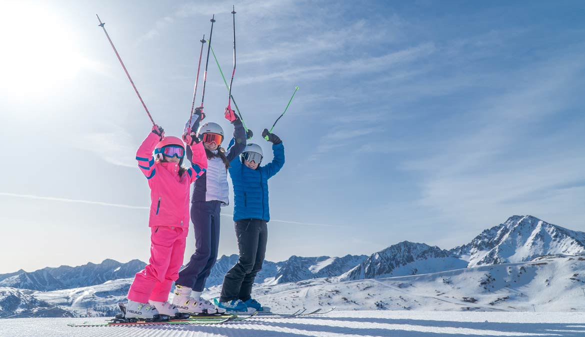
<instances>
[{"instance_id":1,"label":"bright pink ski pants on the leftmost skier","mask_svg":"<svg viewBox=\"0 0 585 337\"><path fill-rule=\"evenodd\" d=\"M188 228L150 227L149 264L134 277L128 299L140 303L168 301L173 281L183 265Z\"/></svg>"}]
</instances>

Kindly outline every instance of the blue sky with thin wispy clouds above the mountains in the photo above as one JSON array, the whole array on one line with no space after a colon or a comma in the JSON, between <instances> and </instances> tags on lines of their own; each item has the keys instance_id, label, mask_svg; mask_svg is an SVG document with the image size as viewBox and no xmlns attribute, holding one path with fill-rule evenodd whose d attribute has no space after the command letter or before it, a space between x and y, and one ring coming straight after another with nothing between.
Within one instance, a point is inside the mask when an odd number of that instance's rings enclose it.
<instances>
[{"instance_id":1,"label":"blue sky with thin wispy clouds above the mountains","mask_svg":"<svg viewBox=\"0 0 585 337\"><path fill-rule=\"evenodd\" d=\"M233 4L232 93L250 128L270 127L300 86L274 129L287 162L270 180L267 259L449 249L513 214L585 230L582 2ZM95 13L178 135L214 13L230 70L231 5L0 2L0 273L147 260L149 189L133 158L150 121ZM210 63L205 112L228 131L226 96ZM237 251L231 212L220 253Z\"/></svg>"}]
</instances>

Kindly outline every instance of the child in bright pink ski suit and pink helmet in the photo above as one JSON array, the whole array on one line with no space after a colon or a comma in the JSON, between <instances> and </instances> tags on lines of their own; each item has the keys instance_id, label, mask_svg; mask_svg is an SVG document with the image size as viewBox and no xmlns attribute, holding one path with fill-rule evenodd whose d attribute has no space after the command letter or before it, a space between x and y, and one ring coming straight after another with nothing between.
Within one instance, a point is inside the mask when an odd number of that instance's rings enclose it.
<instances>
[{"instance_id":1,"label":"child in bright pink ski suit and pink helmet","mask_svg":"<svg viewBox=\"0 0 585 337\"><path fill-rule=\"evenodd\" d=\"M197 130L201 113L192 130ZM183 141L164 137L164 130L153 126L144 139L136 160L150 186L150 260L144 270L136 273L128 292L126 318L156 319L176 317L177 308L167 302L168 294L183 264L185 238L189 230L189 194L191 183L207 169L207 155L195 133L183 135L191 146L191 168L181 167L185 156ZM156 157L153 158L153 151Z\"/></svg>"}]
</instances>

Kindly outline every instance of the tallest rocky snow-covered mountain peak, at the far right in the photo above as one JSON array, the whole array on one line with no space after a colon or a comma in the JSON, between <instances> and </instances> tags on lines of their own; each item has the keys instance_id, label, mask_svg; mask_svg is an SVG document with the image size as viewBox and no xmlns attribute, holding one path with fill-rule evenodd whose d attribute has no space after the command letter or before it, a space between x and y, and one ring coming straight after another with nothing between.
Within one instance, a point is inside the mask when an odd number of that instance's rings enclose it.
<instances>
[{"instance_id":1,"label":"tallest rocky snow-covered mountain peak, at the far right","mask_svg":"<svg viewBox=\"0 0 585 337\"><path fill-rule=\"evenodd\" d=\"M470 267L524 262L549 254L574 255L585 252L585 232L567 230L533 216L512 216L450 252L469 261Z\"/></svg>"}]
</instances>

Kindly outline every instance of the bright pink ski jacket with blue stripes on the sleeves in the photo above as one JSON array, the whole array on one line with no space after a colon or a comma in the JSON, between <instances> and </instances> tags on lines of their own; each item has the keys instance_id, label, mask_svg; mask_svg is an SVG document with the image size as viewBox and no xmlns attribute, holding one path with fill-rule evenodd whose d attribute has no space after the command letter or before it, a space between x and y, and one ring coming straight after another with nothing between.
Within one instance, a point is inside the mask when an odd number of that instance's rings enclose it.
<instances>
[{"instance_id":1,"label":"bright pink ski jacket with blue stripes on the sleeves","mask_svg":"<svg viewBox=\"0 0 585 337\"><path fill-rule=\"evenodd\" d=\"M191 168L183 176L179 176L178 163L154 161L152 154L159 139L156 134L149 133L136 151L138 167L150 186L149 227L173 226L188 229L190 186L207 169L205 149L202 143L191 146Z\"/></svg>"}]
</instances>

